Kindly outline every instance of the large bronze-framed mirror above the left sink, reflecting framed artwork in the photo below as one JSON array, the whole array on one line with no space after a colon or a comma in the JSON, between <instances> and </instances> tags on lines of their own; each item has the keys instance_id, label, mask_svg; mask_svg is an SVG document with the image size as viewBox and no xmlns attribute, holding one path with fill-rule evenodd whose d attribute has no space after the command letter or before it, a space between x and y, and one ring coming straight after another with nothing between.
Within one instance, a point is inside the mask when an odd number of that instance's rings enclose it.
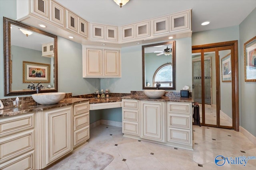
<instances>
[{"instance_id":1,"label":"large bronze-framed mirror above the left sink, reflecting framed artwork","mask_svg":"<svg viewBox=\"0 0 256 170\"><path fill-rule=\"evenodd\" d=\"M4 96L58 92L57 57L56 35L4 17Z\"/></svg>"}]
</instances>

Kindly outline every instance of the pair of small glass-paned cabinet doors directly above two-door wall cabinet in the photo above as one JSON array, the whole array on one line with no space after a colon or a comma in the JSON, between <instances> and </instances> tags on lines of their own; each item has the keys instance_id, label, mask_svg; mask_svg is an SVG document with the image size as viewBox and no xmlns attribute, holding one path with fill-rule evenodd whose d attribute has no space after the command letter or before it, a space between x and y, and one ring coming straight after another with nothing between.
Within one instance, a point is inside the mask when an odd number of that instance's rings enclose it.
<instances>
[{"instance_id":1,"label":"pair of small glass-paned cabinet doors directly above two-door wall cabinet","mask_svg":"<svg viewBox=\"0 0 256 170\"><path fill-rule=\"evenodd\" d=\"M91 23L91 39L117 41L117 27Z\"/></svg>"}]
</instances>

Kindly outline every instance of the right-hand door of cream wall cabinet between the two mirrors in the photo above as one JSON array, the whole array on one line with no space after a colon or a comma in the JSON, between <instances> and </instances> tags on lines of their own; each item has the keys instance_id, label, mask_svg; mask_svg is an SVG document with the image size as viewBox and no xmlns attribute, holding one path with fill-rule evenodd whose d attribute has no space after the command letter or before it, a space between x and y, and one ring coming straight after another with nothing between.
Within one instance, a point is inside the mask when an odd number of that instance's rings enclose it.
<instances>
[{"instance_id":1,"label":"right-hand door of cream wall cabinet between the two mirrors","mask_svg":"<svg viewBox=\"0 0 256 170\"><path fill-rule=\"evenodd\" d=\"M120 76L119 50L104 50L104 76Z\"/></svg>"}]
</instances>

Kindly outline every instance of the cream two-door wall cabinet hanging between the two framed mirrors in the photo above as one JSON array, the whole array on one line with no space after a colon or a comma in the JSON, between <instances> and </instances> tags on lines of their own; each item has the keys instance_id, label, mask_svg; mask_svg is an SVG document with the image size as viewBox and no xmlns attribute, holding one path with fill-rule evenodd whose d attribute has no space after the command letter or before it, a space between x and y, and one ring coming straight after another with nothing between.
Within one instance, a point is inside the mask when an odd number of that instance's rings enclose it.
<instances>
[{"instance_id":1,"label":"cream two-door wall cabinet hanging between the two framed mirrors","mask_svg":"<svg viewBox=\"0 0 256 170\"><path fill-rule=\"evenodd\" d=\"M82 53L84 78L121 77L120 49L83 45Z\"/></svg>"}]
</instances>

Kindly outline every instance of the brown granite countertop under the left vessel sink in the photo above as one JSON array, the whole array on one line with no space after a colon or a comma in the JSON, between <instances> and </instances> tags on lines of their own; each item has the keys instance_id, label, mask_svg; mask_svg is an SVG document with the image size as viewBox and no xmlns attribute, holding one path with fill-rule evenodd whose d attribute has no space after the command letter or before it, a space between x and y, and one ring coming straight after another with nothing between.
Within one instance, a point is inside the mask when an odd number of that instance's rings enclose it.
<instances>
[{"instance_id":1,"label":"brown granite countertop under the left vessel sink","mask_svg":"<svg viewBox=\"0 0 256 170\"><path fill-rule=\"evenodd\" d=\"M58 107L69 106L72 104L87 102L88 100L89 99L84 99L84 98L64 98L58 104L52 104L52 105L40 105L34 102L31 104L24 104L21 107L5 106L4 109L0 110L0 117L18 115L22 113L28 113L31 111L54 109Z\"/></svg>"}]
</instances>

